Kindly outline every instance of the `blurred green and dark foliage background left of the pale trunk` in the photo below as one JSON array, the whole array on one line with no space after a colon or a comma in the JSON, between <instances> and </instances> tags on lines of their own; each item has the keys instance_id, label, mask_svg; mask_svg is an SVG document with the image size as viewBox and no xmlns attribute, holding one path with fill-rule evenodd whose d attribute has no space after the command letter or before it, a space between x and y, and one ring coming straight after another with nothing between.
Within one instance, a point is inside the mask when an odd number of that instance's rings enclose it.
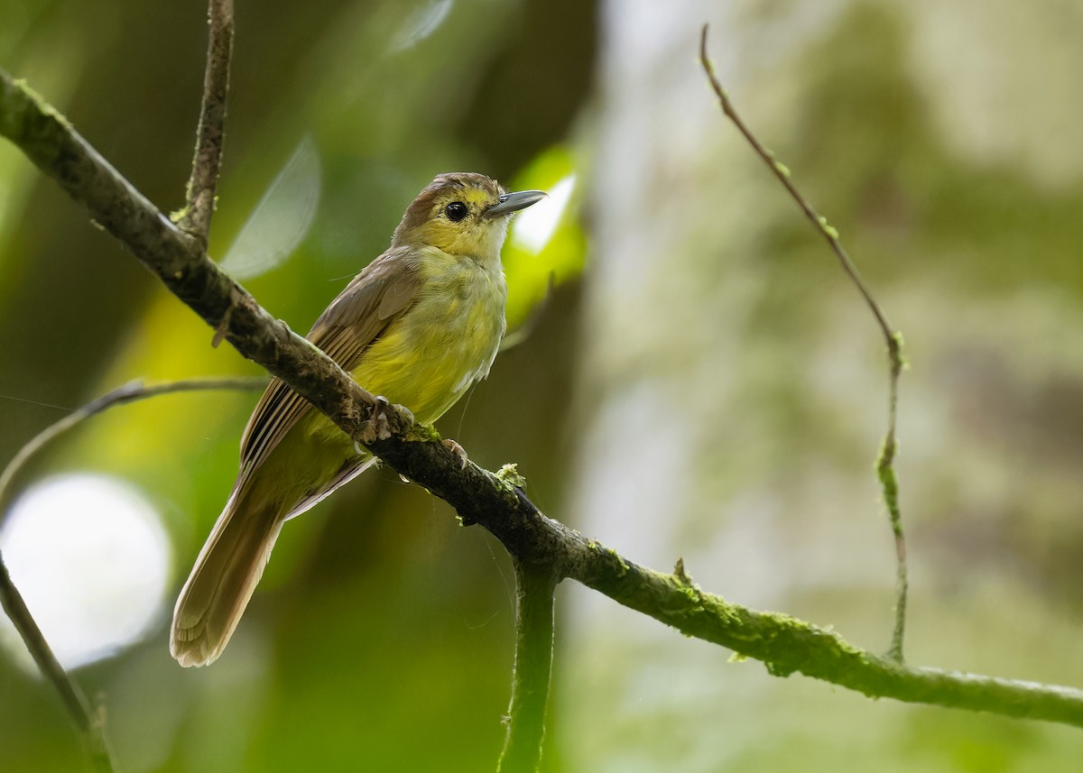
<instances>
[{"instance_id":1,"label":"blurred green and dark foliage background left of the pale trunk","mask_svg":"<svg viewBox=\"0 0 1083 773\"><path fill-rule=\"evenodd\" d=\"M171 209L190 163L205 12L142 0L5 2L0 62ZM567 152L553 148L590 88L593 19L578 2L238 3L212 254L229 250L305 136L324 171L312 230L279 268L247 281L302 330L387 247L435 173L550 186L570 171ZM229 346L210 349L211 331L10 146L0 147L0 394L75 406L132 378L257 372ZM561 233L566 247L574 237ZM550 271L567 278L582 265L582 239L542 256L540 271L525 264L533 256L508 258L516 325ZM575 294L563 287L530 348L503 357L469 408L441 422L482 464L529 466L550 505L561 442L551 417L567 390ZM174 538L175 590L232 485L253 401L218 393L115 411L38 472L97 470L152 497ZM0 458L60 415L0 399ZM366 479L291 525L236 657L221 668L182 671L170 660L166 599L144 644L78 672L90 695L108 696L122 770L494 764L512 644L503 551L392 472ZM0 685L3 769L78 770L78 742L55 697L8 657Z\"/></svg>"}]
</instances>

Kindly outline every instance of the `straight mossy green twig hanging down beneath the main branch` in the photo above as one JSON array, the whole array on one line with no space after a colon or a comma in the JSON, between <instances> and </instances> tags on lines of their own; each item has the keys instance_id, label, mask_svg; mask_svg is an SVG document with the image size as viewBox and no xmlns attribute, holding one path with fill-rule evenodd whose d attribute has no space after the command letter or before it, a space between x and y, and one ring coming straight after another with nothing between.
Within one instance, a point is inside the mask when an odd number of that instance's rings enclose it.
<instances>
[{"instance_id":1,"label":"straight mossy green twig hanging down beneath the main branch","mask_svg":"<svg viewBox=\"0 0 1083 773\"><path fill-rule=\"evenodd\" d=\"M545 711L552 678L553 601L551 565L516 565L516 666L511 678L508 733L497 773L535 773L542 759Z\"/></svg>"}]
</instances>

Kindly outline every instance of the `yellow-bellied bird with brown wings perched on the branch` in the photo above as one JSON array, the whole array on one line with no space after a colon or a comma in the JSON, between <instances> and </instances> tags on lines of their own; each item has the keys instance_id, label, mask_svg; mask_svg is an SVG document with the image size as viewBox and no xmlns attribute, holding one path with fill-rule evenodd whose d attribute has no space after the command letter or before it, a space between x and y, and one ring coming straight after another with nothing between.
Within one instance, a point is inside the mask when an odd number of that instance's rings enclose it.
<instances>
[{"instance_id":1,"label":"yellow-bellied bird with brown wings perched on the branch","mask_svg":"<svg viewBox=\"0 0 1083 773\"><path fill-rule=\"evenodd\" d=\"M508 221L544 196L506 193L484 174L439 175L308 339L369 392L431 424L488 375L506 326ZM169 650L182 666L222 654L282 525L371 463L308 401L271 382L240 438L233 492L177 600Z\"/></svg>"}]
</instances>

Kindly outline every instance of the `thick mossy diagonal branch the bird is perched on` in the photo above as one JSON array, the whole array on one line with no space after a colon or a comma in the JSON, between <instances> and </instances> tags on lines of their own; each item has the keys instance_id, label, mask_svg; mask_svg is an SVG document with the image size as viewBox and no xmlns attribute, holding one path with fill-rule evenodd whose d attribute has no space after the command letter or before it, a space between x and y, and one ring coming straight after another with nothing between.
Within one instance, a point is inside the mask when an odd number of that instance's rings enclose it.
<instances>
[{"instance_id":1,"label":"thick mossy diagonal branch the bird is perched on","mask_svg":"<svg viewBox=\"0 0 1083 773\"><path fill-rule=\"evenodd\" d=\"M639 566L543 515L517 477L460 458L435 433L375 401L323 352L274 320L101 158L56 112L0 71L0 134L12 140L212 328L234 305L225 338L282 378L396 472L480 523L519 561L552 567L681 632L762 660L775 676L800 672L871 697L990 711L1083 728L1083 691L932 668L906 667L833 631L755 612L706 593L683 573ZM236 302L234 296L236 293Z\"/></svg>"}]
</instances>

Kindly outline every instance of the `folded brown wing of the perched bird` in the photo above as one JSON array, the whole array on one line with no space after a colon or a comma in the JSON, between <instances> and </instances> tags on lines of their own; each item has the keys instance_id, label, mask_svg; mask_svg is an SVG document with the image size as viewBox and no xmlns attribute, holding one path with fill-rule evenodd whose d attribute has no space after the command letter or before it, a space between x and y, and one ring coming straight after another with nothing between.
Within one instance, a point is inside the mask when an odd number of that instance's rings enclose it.
<instances>
[{"instance_id":1,"label":"folded brown wing of the perched bird","mask_svg":"<svg viewBox=\"0 0 1083 773\"><path fill-rule=\"evenodd\" d=\"M369 263L331 301L306 338L343 369L351 370L365 350L417 298L421 277L412 250L388 250ZM274 379L252 411L240 437L242 486L268 458L311 404Z\"/></svg>"}]
</instances>

